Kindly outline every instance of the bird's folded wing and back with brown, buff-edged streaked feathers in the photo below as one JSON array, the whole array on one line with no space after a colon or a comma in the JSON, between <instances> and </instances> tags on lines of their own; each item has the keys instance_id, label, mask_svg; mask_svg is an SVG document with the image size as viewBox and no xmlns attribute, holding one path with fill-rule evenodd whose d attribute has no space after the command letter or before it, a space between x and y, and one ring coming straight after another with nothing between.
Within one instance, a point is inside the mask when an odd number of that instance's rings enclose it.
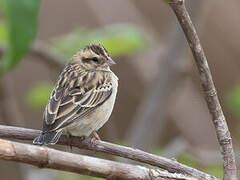
<instances>
[{"instance_id":1,"label":"bird's folded wing and back with brown, buff-edged streaked feathers","mask_svg":"<svg viewBox=\"0 0 240 180\"><path fill-rule=\"evenodd\" d=\"M87 116L111 96L113 87L108 76L96 75L96 72L75 73L75 76L62 75L58 81L44 112L43 131L68 126Z\"/></svg>"}]
</instances>

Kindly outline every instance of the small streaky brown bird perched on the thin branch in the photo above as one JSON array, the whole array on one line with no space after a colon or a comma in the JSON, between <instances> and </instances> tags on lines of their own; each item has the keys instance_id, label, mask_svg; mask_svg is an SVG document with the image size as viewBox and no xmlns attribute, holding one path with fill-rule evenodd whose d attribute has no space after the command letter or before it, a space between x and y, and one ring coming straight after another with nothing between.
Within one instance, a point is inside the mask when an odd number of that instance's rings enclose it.
<instances>
[{"instance_id":1,"label":"small streaky brown bird perched on the thin branch","mask_svg":"<svg viewBox=\"0 0 240 180\"><path fill-rule=\"evenodd\" d=\"M87 137L109 119L118 78L107 50L91 44L75 54L60 74L43 115L43 131L33 144L56 144L65 131ZM97 134L95 134L97 136Z\"/></svg>"}]
</instances>

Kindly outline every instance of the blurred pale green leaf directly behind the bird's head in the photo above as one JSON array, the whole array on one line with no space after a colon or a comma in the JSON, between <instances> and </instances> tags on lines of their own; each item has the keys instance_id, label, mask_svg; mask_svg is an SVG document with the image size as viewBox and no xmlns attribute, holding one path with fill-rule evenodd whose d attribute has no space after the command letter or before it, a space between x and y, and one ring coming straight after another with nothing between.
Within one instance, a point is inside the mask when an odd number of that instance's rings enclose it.
<instances>
[{"instance_id":1,"label":"blurred pale green leaf directly behind the bird's head","mask_svg":"<svg viewBox=\"0 0 240 180\"><path fill-rule=\"evenodd\" d=\"M126 55L143 49L149 39L136 26L113 24L101 29L77 29L68 35L51 41L54 51L71 57L80 48L90 43L102 44L112 57Z\"/></svg>"}]
</instances>

